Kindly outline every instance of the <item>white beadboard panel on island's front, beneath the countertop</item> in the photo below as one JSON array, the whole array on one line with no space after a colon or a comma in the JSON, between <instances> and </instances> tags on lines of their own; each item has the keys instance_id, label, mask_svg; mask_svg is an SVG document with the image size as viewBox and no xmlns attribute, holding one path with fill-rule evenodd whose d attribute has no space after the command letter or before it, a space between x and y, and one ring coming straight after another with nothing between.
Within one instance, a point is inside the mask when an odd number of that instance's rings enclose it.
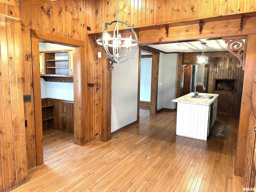
<instances>
[{"instance_id":1,"label":"white beadboard panel on island's front, beneath the countertop","mask_svg":"<svg viewBox=\"0 0 256 192\"><path fill-rule=\"evenodd\" d=\"M201 140L207 140L208 105L178 103L176 134Z\"/></svg>"}]
</instances>

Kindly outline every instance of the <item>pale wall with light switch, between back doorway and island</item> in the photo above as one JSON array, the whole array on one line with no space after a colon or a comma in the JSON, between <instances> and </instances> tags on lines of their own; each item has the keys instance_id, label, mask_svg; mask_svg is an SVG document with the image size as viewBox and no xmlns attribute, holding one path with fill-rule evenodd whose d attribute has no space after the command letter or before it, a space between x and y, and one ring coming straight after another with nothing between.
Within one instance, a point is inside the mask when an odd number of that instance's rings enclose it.
<instances>
[{"instance_id":1,"label":"pale wall with light switch, between back doorway and island","mask_svg":"<svg viewBox=\"0 0 256 192\"><path fill-rule=\"evenodd\" d=\"M160 110L162 108L176 108L176 103L171 102L171 100L176 98L177 70L178 54L160 53L157 110Z\"/></svg>"}]
</instances>

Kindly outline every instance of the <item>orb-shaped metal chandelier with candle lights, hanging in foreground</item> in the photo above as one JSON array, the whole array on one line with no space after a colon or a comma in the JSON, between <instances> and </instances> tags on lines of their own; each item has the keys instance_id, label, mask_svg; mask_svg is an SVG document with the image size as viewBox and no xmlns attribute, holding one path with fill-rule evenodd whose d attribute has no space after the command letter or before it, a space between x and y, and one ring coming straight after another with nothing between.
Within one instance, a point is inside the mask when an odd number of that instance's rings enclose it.
<instances>
[{"instance_id":1,"label":"orb-shaped metal chandelier with candle lights, hanging in foreground","mask_svg":"<svg viewBox=\"0 0 256 192\"><path fill-rule=\"evenodd\" d=\"M97 44L102 45L106 52L106 58L110 58L114 63L123 63L128 59L133 58L133 54L139 44L136 33L133 30L132 25L128 25L126 22L119 21L119 6L118 0L116 1L116 21L105 24L105 29L102 32L102 38L96 40ZM108 35L108 27L114 25L113 35ZM123 24L126 29L131 29L132 33L129 32L130 36L124 38L119 32L119 25ZM134 39L133 39L134 37Z\"/></svg>"}]
</instances>

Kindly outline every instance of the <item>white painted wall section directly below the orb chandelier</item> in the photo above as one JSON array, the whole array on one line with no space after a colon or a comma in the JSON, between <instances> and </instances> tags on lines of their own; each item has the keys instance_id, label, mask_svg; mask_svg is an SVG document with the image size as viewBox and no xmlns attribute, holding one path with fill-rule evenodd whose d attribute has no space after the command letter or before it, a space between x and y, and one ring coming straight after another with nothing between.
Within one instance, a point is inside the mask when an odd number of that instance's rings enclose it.
<instances>
[{"instance_id":1,"label":"white painted wall section directly below the orb chandelier","mask_svg":"<svg viewBox=\"0 0 256 192\"><path fill-rule=\"evenodd\" d=\"M139 49L112 70L111 132L137 120Z\"/></svg>"}]
</instances>

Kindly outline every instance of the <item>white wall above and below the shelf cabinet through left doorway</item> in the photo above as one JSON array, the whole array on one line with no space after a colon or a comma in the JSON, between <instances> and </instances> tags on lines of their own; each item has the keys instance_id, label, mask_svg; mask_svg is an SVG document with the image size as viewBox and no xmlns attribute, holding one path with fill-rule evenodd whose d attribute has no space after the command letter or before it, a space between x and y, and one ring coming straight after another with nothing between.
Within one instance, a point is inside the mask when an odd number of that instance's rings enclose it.
<instances>
[{"instance_id":1,"label":"white wall above and below the shelf cabinet through left doorway","mask_svg":"<svg viewBox=\"0 0 256 192\"><path fill-rule=\"evenodd\" d=\"M39 51L70 50L72 47L39 42ZM74 84L65 82L46 82L41 80L41 98L54 98L74 101Z\"/></svg>"}]
</instances>

